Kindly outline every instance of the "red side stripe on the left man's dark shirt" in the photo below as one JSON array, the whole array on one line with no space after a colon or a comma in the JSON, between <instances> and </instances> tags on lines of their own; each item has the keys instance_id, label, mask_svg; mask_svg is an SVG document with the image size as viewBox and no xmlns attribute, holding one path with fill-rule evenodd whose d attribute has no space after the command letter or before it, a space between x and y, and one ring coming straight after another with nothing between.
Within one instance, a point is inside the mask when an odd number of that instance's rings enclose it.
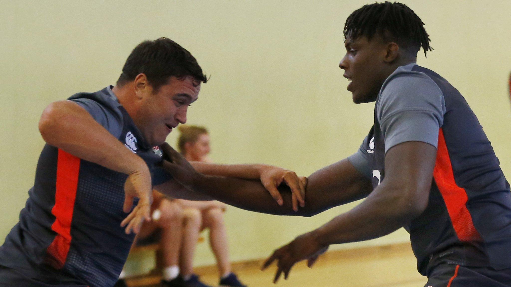
<instances>
[{"instance_id":1,"label":"red side stripe on the left man's dark shirt","mask_svg":"<svg viewBox=\"0 0 511 287\"><path fill-rule=\"evenodd\" d=\"M71 221L78 188L79 171L80 158L59 149L55 205L52 208L52 214L55 216L52 230L57 232L57 235L47 249L51 255L50 264L56 269L64 267L71 246Z\"/></svg>"}]
</instances>

